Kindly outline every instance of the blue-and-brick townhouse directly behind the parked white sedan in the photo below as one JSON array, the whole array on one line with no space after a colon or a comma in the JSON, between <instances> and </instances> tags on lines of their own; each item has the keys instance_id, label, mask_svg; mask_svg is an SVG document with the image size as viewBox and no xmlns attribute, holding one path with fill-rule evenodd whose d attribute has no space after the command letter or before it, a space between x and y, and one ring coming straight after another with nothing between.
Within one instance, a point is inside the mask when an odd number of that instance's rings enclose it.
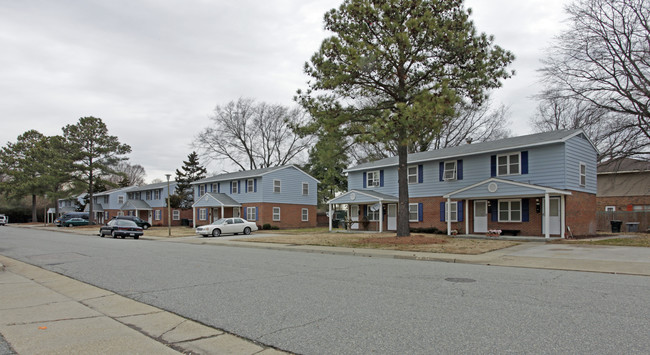
<instances>
[{"instance_id":1,"label":"blue-and-brick townhouse directly behind the parked white sedan","mask_svg":"<svg viewBox=\"0 0 650 355\"><path fill-rule=\"evenodd\" d=\"M211 176L192 183L194 225L242 217L279 228L316 226L318 180L293 165Z\"/></svg>"}]
</instances>

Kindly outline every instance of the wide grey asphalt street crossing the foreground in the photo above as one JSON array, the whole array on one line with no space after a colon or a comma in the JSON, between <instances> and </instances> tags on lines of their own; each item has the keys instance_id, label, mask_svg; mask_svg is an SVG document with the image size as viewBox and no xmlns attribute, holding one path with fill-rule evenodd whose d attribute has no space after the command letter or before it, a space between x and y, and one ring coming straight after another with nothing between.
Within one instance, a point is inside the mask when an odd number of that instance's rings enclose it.
<instances>
[{"instance_id":1,"label":"wide grey asphalt street crossing the foreground","mask_svg":"<svg viewBox=\"0 0 650 355\"><path fill-rule=\"evenodd\" d=\"M18 228L0 254L301 354L650 349L650 277Z\"/></svg>"}]
</instances>

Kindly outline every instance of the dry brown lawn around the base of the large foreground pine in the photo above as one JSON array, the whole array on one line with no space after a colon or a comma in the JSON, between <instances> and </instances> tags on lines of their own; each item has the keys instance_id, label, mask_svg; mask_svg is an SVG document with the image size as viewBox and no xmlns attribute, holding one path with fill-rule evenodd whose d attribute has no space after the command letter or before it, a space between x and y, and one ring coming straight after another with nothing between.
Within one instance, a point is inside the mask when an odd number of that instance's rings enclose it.
<instances>
[{"instance_id":1,"label":"dry brown lawn around the base of the large foreground pine","mask_svg":"<svg viewBox=\"0 0 650 355\"><path fill-rule=\"evenodd\" d=\"M506 240L461 239L439 234L421 233L400 238L397 238L394 234L322 232L284 234L284 231L281 233L283 235L267 237L260 234L260 237L240 239L240 241L471 255L483 254L519 244Z\"/></svg>"}]
</instances>

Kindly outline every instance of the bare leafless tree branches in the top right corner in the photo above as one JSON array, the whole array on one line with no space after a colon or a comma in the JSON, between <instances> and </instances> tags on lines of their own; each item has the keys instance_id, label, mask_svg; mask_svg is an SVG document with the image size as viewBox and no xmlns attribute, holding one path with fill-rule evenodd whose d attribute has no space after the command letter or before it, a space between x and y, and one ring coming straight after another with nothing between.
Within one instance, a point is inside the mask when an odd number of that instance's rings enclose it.
<instances>
[{"instance_id":1,"label":"bare leafless tree branches in the top right corner","mask_svg":"<svg viewBox=\"0 0 650 355\"><path fill-rule=\"evenodd\" d=\"M650 2L576 0L566 11L570 28L541 69L553 96L615 113L650 140Z\"/></svg>"}]
</instances>

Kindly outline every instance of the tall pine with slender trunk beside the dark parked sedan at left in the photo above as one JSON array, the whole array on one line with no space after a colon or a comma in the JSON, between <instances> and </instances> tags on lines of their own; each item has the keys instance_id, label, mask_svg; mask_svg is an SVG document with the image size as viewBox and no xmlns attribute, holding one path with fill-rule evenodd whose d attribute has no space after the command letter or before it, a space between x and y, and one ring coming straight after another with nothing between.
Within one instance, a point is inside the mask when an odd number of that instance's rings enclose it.
<instances>
[{"instance_id":1,"label":"tall pine with slender trunk beside the dark parked sedan at left","mask_svg":"<svg viewBox=\"0 0 650 355\"><path fill-rule=\"evenodd\" d=\"M63 127L63 135L74 149L74 168L77 180L88 187L88 199L93 200L96 180L115 174L113 167L126 160L124 154L131 147L119 142L117 137L108 134L108 128L101 118L81 117L75 125ZM94 208L88 208L90 222L94 223Z\"/></svg>"}]
</instances>

